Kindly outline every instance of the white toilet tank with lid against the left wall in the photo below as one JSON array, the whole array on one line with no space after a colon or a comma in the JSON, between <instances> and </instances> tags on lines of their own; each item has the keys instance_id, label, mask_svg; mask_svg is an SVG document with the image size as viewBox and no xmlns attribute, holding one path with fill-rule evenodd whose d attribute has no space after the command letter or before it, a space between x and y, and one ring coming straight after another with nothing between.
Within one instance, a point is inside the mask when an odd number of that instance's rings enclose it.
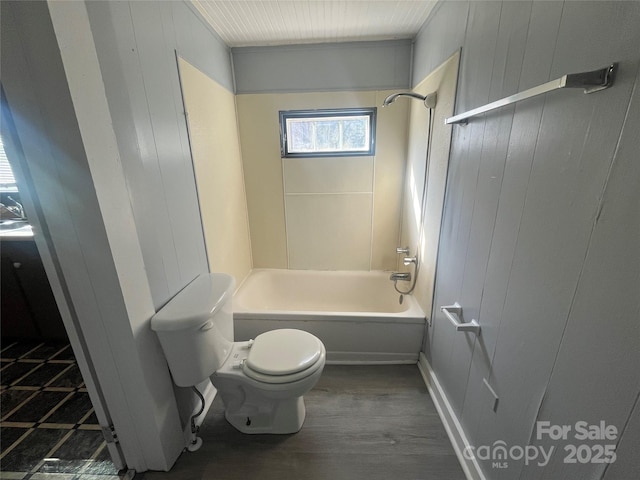
<instances>
[{"instance_id":1,"label":"white toilet tank with lid against the left wall","mask_svg":"<svg viewBox=\"0 0 640 480\"><path fill-rule=\"evenodd\" d=\"M151 318L173 381L197 385L227 359L233 345L235 279L224 273L198 276Z\"/></svg>"}]
</instances>

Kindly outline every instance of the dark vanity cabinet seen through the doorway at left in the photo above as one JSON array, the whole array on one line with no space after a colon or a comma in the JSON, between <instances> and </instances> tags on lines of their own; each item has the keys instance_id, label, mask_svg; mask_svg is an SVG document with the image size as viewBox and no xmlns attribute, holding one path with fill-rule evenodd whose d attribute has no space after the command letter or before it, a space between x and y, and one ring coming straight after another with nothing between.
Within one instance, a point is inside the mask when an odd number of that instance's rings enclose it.
<instances>
[{"instance_id":1,"label":"dark vanity cabinet seen through the doorway at left","mask_svg":"<svg viewBox=\"0 0 640 480\"><path fill-rule=\"evenodd\" d=\"M49 280L32 239L0 242L3 339L66 339Z\"/></svg>"}]
</instances>

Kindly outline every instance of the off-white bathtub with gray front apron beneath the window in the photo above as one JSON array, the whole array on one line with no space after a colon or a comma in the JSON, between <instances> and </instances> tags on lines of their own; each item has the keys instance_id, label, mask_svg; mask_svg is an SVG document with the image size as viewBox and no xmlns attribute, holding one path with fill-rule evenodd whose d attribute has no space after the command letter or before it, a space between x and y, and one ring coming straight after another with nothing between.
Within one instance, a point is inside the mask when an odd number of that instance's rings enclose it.
<instances>
[{"instance_id":1,"label":"off-white bathtub with gray front apron beneath the window","mask_svg":"<svg viewBox=\"0 0 640 480\"><path fill-rule=\"evenodd\" d=\"M236 341L276 328L313 333L336 364L416 363L425 315L388 272L254 269L233 297Z\"/></svg>"}]
</instances>

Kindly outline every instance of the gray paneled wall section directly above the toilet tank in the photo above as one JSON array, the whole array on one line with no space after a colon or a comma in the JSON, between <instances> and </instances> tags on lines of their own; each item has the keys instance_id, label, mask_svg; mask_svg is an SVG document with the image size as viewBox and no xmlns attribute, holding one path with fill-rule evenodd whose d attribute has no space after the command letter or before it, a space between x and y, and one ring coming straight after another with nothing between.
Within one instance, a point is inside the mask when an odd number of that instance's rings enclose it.
<instances>
[{"instance_id":1,"label":"gray paneled wall section directly above the toilet tank","mask_svg":"<svg viewBox=\"0 0 640 480\"><path fill-rule=\"evenodd\" d=\"M176 51L232 90L229 52L184 2L87 2L154 306L208 271Z\"/></svg>"}]
</instances>

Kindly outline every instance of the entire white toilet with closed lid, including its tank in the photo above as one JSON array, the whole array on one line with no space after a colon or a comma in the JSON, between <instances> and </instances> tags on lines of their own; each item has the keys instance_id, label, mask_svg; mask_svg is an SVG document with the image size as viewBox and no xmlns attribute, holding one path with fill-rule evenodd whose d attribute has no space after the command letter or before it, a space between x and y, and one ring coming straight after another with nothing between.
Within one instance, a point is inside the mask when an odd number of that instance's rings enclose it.
<instances>
[{"instance_id":1,"label":"entire white toilet with closed lid, including its tank","mask_svg":"<svg viewBox=\"0 0 640 480\"><path fill-rule=\"evenodd\" d=\"M278 329L233 341L235 280L202 274L151 319L173 381L192 387L210 378L225 417L243 433L295 433L305 418L303 395L316 384L326 350L314 335Z\"/></svg>"}]
</instances>

